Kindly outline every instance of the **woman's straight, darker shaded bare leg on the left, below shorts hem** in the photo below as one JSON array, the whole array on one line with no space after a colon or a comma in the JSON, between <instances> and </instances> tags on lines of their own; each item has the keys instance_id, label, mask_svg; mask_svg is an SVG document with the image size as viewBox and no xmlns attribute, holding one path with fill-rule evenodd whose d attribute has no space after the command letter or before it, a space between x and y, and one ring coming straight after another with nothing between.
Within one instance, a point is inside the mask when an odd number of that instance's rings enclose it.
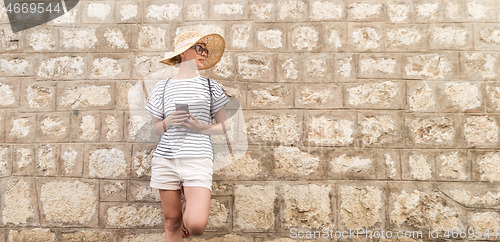
<instances>
[{"instance_id":1,"label":"woman's straight, darker shaded bare leg on the left, below shorts hem","mask_svg":"<svg viewBox=\"0 0 500 242\"><path fill-rule=\"evenodd\" d=\"M160 199L167 241L182 241L182 206L180 190L160 190Z\"/></svg>"}]
</instances>

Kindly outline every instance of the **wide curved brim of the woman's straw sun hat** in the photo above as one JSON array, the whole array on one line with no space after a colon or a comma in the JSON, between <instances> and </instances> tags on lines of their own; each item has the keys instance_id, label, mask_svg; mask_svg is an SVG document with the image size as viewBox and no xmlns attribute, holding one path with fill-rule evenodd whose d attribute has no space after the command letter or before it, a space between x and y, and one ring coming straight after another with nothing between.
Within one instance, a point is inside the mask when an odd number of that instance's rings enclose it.
<instances>
[{"instance_id":1,"label":"wide curved brim of the woman's straw sun hat","mask_svg":"<svg viewBox=\"0 0 500 242\"><path fill-rule=\"evenodd\" d=\"M178 62L174 61L173 58L183 53L184 51L188 50L189 48L191 48L191 46L193 46L196 43L204 43L206 45L205 48L207 48L209 52L209 55L207 58L205 58L205 62L203 62L203 67L200 68L200 70L208 69L217 64L217 62L219 62L220 59L222 58L222 54L224 53L224 48L226 47L224 38L221 35L219 34L203 35L200 36L199 38L191 39L189 43L186 43L185 45L176 49L173 52L165 53L165 56L163 57L163 59L160 60L160 62L167 65L178 64Z\"/></svg>"}]
</instances>

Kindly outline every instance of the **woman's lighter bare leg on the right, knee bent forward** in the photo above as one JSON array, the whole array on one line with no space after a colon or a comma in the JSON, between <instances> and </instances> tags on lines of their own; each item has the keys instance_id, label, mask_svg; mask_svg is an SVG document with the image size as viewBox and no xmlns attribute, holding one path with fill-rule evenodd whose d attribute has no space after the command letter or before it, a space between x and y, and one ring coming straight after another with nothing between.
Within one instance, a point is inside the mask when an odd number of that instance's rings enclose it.
<instances>
[{"instance_id":1,"label":"woman's lighter bare leg on the right, knee bent forward","mask_svg":"<svg viewBox=\"0 0 500 242\"><path fill-rule=\"evenodd\" d=\"M191 235L201 235L208 224L210 190L205 187L184 187L186 210L182 215L184 226Z\"/></svg>"}]
</instances>

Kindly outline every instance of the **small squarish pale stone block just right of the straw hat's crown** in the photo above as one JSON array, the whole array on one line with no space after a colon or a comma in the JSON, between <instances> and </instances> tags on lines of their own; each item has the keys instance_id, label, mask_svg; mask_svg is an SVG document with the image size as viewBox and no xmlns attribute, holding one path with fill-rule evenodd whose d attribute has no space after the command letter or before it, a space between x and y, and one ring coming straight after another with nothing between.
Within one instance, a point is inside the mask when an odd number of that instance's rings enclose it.
<instances>
[{"instance_id":1,"label":"small squarish pale stone block just right of the straw hat's crown","mask_svg":"<svg viewBox=\"0 0 500 242\"><path fill-rule=\"evenodd\" d=\"M231 25L231 40L228 41L227 47L230 50L251 50L254 49L253 39L254 26L251 22L238 22ZM231 43L231 45L229 45Z\"/></svg>"}]
</instances>

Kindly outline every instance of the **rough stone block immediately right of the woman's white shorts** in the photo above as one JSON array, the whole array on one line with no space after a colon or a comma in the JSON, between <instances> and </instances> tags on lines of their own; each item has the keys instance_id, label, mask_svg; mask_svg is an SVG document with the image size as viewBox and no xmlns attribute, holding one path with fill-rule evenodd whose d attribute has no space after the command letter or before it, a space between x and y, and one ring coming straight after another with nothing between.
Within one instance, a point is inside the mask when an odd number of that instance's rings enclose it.
<instances>
[{"instance_id":1,"label":"rough stone block immediately right of the woman's white shorts","mask_svg":"<svg viewBox=\"0 0 500 242\"><path fill-rule=\"evenodd\" d=\"M253 144L230 154L227 146L214 146L214 180L250 180L266 176L270 152Z\"/></svg>"}]
</instances>

